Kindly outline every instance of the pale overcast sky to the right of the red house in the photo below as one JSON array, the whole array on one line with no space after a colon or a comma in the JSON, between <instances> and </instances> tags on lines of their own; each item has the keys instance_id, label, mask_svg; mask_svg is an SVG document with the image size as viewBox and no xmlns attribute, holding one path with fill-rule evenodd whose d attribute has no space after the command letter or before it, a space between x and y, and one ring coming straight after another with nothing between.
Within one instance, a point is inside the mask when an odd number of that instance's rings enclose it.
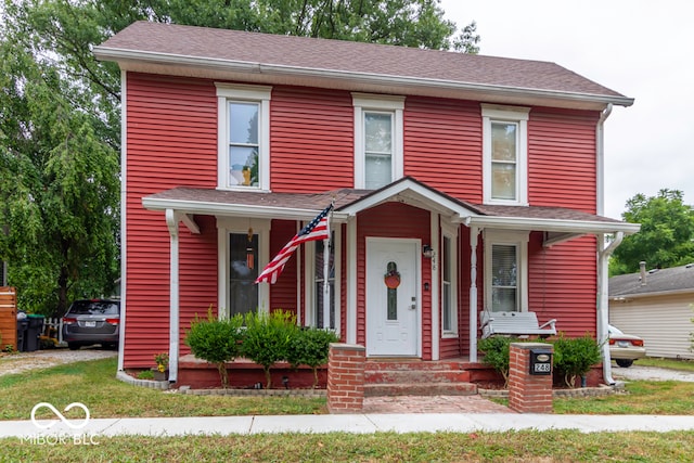
<instances>
[{"instance_id":1,"label":"pale overcast sky to the right of the red house","mask_svg":"<svg viewBox=\"0 0 694 463\"><path fill-rule=\"evenodd\" d=\"M556 63L633 98L605 121L604 215L638 193L694 205L694 26L690 0L441 0L475 21L481 55Z\"/></svg>"}]
</instances>

